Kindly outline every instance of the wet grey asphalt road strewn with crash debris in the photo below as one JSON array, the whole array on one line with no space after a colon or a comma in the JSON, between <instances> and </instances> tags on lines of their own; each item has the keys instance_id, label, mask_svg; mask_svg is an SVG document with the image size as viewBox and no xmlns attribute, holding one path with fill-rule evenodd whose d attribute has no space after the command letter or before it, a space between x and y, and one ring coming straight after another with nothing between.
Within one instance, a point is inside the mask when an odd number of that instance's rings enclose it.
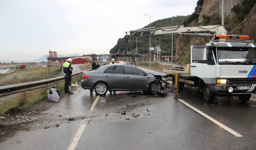
<instances>
[{"instance_id":1,"label":"wet grey asphalt road strewn with crash debris","mask_svg":"<svg viewBox=\"0 0 256 150\"><path fill-rule=\"evenodd\" d=\"M42 123L35 122L31 130L19 131L1 142L1 149L238 150L256 147L255 100L242 103L236 97L215 97L214 102L207 103L197 88L188 86L180 92L178 100L172 92L164 97L140 92L108 92L97 96L81 87L73 89L74 95L63 94L59 103L52 103L49 110L38 116ZM122 111L126 115L122 115Z\"/></svg>"}]
</instances>

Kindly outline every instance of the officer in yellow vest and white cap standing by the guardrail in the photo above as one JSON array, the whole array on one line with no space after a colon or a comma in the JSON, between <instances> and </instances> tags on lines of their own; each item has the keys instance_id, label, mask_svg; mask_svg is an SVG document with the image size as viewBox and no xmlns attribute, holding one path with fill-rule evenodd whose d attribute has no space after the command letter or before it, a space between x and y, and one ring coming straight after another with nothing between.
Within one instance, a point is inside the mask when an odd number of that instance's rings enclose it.
<instances>
[{"instance_id":1,"label":"officer in yellow vest and white cap standing by the guardrail","mask_svg":"<svg viewBox=\"0 0 256 150\"><path fill-rule=\"evenodd\" d=\"M73 68L71 67L71 62L72 59L68 58L68 60L63 63L63 71L64 71L64 77L65 77L65 84L64 84L64 91L65 93L68 94L74 94L73 92L71 92L71 74L72 74L72 70Z\"/></svg>"}]
</instances>

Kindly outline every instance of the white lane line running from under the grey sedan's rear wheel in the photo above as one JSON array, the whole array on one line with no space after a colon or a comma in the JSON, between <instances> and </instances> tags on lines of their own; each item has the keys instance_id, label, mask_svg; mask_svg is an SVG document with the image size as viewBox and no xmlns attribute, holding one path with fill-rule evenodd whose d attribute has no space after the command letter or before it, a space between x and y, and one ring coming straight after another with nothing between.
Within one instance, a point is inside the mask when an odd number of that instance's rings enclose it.
<instances>
[{"instance_id":1,"label":"white lane line running from under the grey sedan's rear wheel","mask_svg":"<svg viewBox=\"0 0 256 150\"><path fill-rule=\"evenodd\" d=\"M100 96L98 95L98 96L96 97L96 99L94 100L94 102L92 103L91 109L90 109L90 111L89 111L89 115L92 114L92 111L94 110L94 107L96 106L96 104L97 104L99 98L100 98ZM78 141L79 141L81 135L82 135L83 132L84 132L84 129L85 129L85 127L86 127L86 124L87 124L87 122L84 123L84 124L82 124L82 125L79 127L78 131L76 132L75 137L73 138L71 144L70 144L69 147L68 147L68 150L75 150L76 145L78 144Z\"/></svg>"}]
</instances>

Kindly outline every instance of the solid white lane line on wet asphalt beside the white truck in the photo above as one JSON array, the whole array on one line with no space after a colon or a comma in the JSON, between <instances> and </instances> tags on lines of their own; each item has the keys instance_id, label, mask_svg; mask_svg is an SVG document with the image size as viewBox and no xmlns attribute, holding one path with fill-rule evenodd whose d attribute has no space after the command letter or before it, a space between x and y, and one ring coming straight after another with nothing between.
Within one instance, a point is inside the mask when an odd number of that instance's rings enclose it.
<instances>
[{"instance_id":1,"label":"solid white lane line on wet asphalt beside the white truck","mask_svg":"<svg viewBox=\"0 0 256 150\"><path fill-rule=\"evenodd\" d=\"M185 104L186 106L190 107L191 109L193 109L194 111L198 112L199 114L201 114L202 116L204 116L205 118L211 120L212 122L214 122L215 124L219 125L220 127L222 127L223 129L225 129L226 131L230 132L231 134L235 135L236 137L243 137L242 135L238 134L237 132L233 131L232 129L230 129L229 127L225 126L224 124L220 123L219 121L211 118L210 116L206 115L205 113L203 113L202 111L194 108L193 106L191 106L190 104L184 102L183 100L178 99L178 101L180 101L181 103Z\"/></svg>"}]
</instances>

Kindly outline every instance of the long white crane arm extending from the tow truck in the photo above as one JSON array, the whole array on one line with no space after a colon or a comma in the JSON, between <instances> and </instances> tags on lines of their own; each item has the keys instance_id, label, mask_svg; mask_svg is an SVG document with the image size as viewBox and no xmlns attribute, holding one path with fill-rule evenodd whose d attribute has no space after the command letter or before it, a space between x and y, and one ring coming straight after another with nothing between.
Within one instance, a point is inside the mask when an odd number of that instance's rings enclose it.
<instances>
[{"instance_id":1,"label":"long white crane arm extending from the tow truck","mask_svg":"<svg viewBox=\"0 0 256 150\"><path fill-rule=\"evenodd\" d=\"M170 34L170 33L178 33L185 34L185 32L210 32L212 34L196 34L200 36L211 36L215 35L227 35L227 30L224 26L215 25L215 26L195 26L195 27L185 27L184 25L180 26L168 26L168 27L149 27L144 29L136 29L131 30L130 32L125 32L126 36L132 37L143 37L143 36L151 36L159 35L159 34ZM128 34L130 33L130 34Z\"/></svg>"}]
</instances>

